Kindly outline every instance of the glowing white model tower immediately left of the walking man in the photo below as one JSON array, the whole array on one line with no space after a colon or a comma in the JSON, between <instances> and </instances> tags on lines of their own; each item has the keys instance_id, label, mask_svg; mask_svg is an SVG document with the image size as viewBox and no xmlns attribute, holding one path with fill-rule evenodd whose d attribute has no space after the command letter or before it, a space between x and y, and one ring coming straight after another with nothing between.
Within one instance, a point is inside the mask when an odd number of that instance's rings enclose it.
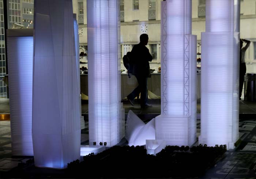
<instances>
[{"instance_id":1,"label":"glowing white model tower immediately left of the walking man","mask_svg":"<svg viewBox=\"0 0 256 179\"><path fill-rule=\"evenodd\" d=\"M119 0L87 1L89 144L122 136Z\"/></svg>"}]
</instances>

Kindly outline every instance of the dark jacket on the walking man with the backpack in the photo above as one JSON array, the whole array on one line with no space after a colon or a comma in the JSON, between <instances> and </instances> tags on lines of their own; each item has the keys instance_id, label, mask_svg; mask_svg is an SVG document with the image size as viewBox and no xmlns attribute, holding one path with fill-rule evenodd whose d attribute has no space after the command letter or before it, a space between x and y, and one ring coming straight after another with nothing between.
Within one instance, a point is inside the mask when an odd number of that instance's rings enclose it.
<instances>
[{"instance_id":1,"label":"dark jacket on the walking man with the backpack","mask_svg":"<svg viewBox=\"0 0 256 179\"><path fill-rule=\"evenodd\" d=\"M151 77L149 61L153 57L149 53L148 48L142 43L136 44L132 48L133 71L132 75L139 77Z\"/></svg>"}]
</instances>

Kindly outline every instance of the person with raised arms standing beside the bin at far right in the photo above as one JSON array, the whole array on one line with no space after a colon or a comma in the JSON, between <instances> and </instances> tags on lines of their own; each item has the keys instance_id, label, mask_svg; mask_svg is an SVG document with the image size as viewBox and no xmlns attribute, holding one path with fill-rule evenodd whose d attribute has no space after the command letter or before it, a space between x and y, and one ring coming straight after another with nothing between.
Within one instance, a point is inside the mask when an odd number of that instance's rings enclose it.
<instances>
[{"instance_id":1,"label":"person with raised arms standing beside the bin at far right","mask_svg":"<svg viewBox=\"0 0 256 179\"><path fill-rule=\"evenodd\" d=\"M246 45L243 47L243 42ZM241 100L242 89L244 85L244 75L246 73L246 65L245 65L245 51L250 46L251 41L240 39L240 71L239 71L239 99Z\"/></svg>"}]
</instances>

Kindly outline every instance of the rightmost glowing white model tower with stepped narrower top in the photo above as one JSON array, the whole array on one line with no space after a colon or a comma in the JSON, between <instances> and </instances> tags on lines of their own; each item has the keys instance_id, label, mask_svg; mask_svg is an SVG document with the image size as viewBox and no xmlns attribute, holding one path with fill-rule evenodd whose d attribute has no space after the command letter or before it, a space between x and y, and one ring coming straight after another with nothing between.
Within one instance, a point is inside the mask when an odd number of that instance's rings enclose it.
<instances>
[{"instance_id":1,"label":"rightmost glowing white model tower with stepped narrower top","mask_svg":"<svg viewBox=\"0 0 256 179\"><path fill-rule=\"evenodd\" d=\"M238 140L239 22L239 0L206 1L199 143L208 146L232 149Z\"/></svg>"}]
</instances>

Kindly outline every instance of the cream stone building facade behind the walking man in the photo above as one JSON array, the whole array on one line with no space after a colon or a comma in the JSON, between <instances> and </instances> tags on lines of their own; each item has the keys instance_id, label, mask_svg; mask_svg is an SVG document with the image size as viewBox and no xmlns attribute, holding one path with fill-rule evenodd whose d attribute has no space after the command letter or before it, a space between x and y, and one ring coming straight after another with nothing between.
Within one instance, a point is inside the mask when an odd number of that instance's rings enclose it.
<instances>
[{"instance_id":1,"label":"cream stone building facade behind the walking man","mask_svg":"<svg viewBox=\"0 0 256 179\"><path fill-rule=\"evenodd\" d=\"M256 0L241 1L241 38L252 41L245 54L247 72L256 72ZM151 69L161 64L161 0L120 0L121 57L139 43L140 34L149 36L148 49L153 56ZM197 35L197 52L201 52L201 32L205 31L206 0L192 0L192 34ZM86 0L73 0L73 11L79 21L80 51L87 52ZM200 57L200 56L198 56ZM88 57L90 58L90 57ZM81 61L87 62L87 57ZM202 59L203 60L203 59ZM221 60L221 59L220 59ZM86 64L83 64L86 66ZM121 64L121 69L125 69Z\"/></svg>"}]
</instances>

